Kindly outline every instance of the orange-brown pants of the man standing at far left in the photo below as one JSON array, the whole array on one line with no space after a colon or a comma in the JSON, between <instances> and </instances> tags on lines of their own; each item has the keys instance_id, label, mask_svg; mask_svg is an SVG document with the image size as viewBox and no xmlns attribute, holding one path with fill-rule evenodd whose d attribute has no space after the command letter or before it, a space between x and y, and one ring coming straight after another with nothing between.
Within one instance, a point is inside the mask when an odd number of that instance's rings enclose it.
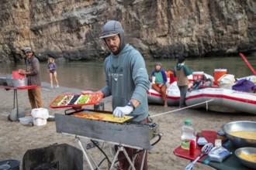
<instances>
[{"instance_id":1,"label":"orange-brown pants of the man standing at far left","mask_svg":"<svg viewBox=\"0 0 256 170\"><path fill-rule=\"evenodd\" d=\"M40 88L28 89L28 95L32 109L43 107Z\"/></svg>"}]
</instances>

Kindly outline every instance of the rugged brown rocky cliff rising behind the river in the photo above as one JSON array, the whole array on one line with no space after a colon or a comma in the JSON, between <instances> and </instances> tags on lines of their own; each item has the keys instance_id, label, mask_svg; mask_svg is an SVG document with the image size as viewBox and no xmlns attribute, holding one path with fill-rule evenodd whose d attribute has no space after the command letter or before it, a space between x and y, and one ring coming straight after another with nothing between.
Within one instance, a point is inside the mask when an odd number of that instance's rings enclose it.
<instances>
[{"instance_id":1,"label":"rugged brown rocky cliff rising behind the river","mask_svg":"<svg viewBox=\"0 0 256 170\"><path fill-rule=\"evenodd\" d=\"M2 0L0 62L32 46L41 60L100 59L110 19L145 58L207 56L256 50L255 0Z\"/></svg>"}]
</instances>

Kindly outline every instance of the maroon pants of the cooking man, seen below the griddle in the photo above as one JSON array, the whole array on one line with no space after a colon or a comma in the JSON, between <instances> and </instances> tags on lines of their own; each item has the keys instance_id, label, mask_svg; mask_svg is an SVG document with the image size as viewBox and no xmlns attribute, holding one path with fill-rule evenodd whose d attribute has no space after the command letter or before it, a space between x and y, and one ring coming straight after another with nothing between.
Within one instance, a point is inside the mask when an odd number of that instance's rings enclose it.
<instances>
[{"instance_id":1,"label":"maroon pants of the cooking man, seen below the griddle","mask_svg":"<svg viewBox=\"0 0 256 170\"><path fill-rule=\"evenodd\" d=\"M147 123L148 122L148 118L144 119L143 121L140 122L144 122ZM129 155L130 160L133 162L133 154L136 153L138 150L135 148L127 148L124 147L126 149L127 154ZM115 146L115 149L117 151L118 146ZM134 168L135 169L140 169L141 167L141 162L142 162L142 158L144 155L144 151L140 151L140 153L137 154L137 158L134 161ZM128 160L126 159L126 156L123 154L123 151L119 152L118 155L118 159L119 159L119 165L121 166L122 170L128 170L130 167L130 163L128 162ZM147 170L147 151L144 157L144 166L143 166L143 170Z\"/></svg>"}]
</instances>

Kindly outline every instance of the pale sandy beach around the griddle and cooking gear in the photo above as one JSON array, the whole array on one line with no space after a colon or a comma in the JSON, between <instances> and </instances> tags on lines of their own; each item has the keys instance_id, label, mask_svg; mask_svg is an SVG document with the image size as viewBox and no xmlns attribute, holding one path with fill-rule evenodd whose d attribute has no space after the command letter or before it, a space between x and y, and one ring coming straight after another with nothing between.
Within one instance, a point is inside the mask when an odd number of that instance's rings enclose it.
<instances>
[{"instance_id":1,"label":"pale sandy beach around the griddle and cooking gear","mask_svg":"<svg viewBox=\"0 0 256 170\"><path fill-rule=\"evenodd\" d=\"M50 90L48 83L43 83L41 93L43 98L43 106L49 110L50 114L64 114L65 109L52 109L49 104L55 97L63 93L80 93L81 90L60 87ZM56 132L55 121L48 121L43 126L25 126L17 121L8 121L10 111L13 109L13 91L0 89L0 102L2 104L0 110L0 161L5 159L18 159L21 162L22 169L23 155L29 149L43 148L49 145L68 144L79 148L78 143L73 136L60 134ZM27 90L18 90L19 107L30 111L29 99ZM111 98L107 97L102 100L105 104L105 110L111 110ZM93 106L87 106L93 108ZM85 107L85 108L87 108ZM164 108L161 105L150 104L150 116L177 110L178 107ZM180 145L181 127L185 119L192 119L192 124L196 131L212 130L220 131L221 126L228 121L255 121L256 117L249 114L223 114L206 110L184 109L168 114L154 116L154 123L160 127L160 132L163 134L161 141L148 151L148 169L184 169L189 164L188 160L178 158L173 154L175 148ZM82 139L84 144L90 141ZM100 144L102 145L102 144ZM110 145L106 145L106 152L110 153ZM99 150L91 148L88 153L93 158L99 160ZM103 164L102 169L106 169L106 164ZM88 164L84 157L84 169L88 169ZM193 169L213 169L207 165L196 163Z\"/></svg>"}]
</instances>

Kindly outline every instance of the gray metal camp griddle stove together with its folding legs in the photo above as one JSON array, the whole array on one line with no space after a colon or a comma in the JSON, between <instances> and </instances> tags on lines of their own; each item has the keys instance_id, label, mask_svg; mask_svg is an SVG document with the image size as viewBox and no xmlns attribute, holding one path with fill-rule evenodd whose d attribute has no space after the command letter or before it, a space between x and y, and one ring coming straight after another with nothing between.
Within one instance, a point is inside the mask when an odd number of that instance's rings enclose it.
<instances>
[{"instance_id":1,"label":"gray metal camp griddle stove together with its folding legs","mask_svg":"<svg viewBox=\"0 0 256 170\"><path fill-rule=\"evenodd\" d=\"M76 141L78 141L81 150L84 152L86 161L92 170L94 168L92 167L92 163L88 158L88 152L81 145L80 138L87 138L93 141L117 145L118 150L113 158L110 169L113 168L119 153L123 151L128 162L130 162L130 167L135 170L133 165L134 160L129 158L129 155L124 147L135 148L143 151L145 157L146 151L153 148L153 145L150 145L150 139L159 134L157 124L133 124L130 122L115 123L109 121L92 120L83 117L74 117L64 114L55 114L55 122L57 132L75 136ZM96 167L99 169L97 165Z\"/></svg>"}]
</instances>

